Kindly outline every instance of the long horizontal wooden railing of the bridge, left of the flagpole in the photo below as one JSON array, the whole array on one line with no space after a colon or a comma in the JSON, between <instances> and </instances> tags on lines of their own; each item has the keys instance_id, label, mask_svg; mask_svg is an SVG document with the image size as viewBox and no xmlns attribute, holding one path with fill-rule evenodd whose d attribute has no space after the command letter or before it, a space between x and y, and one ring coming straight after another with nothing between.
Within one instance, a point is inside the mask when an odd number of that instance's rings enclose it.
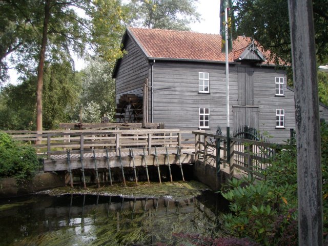
<instances>
[{"instance_id":1,"label":"long horizontal wooden railing of the bridge, left of the flagpole","mask_svg":"<svg viewBox=\"0 0 328 246\"><path fill-rule=\"evenodd\" d=\"M67 149L115 149L129 147L145 147L149 151L153 147L181 146L190 139L182 134L190 135L190 131L175 129L140 129L140 130L70 130L70 131L5 131L13 139L28 142L40 153L64 153ZM36 144L40 142L40 144Z\"/></svg>"}]
</instances>

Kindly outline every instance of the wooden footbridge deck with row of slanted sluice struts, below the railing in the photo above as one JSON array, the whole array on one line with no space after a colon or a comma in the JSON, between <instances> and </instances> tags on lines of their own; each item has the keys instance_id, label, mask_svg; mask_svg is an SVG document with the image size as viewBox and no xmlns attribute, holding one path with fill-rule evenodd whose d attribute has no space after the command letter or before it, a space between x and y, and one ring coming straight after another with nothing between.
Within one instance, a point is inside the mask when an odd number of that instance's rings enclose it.
<instances>
[{"instance_id":1,"label":"wooden footbridge deck with row of slanted sluice struts, below the railing","mask_svg":"<svg viewBox=\"0 0 328 246\"><path fill-rule=\"evenodd\" d=\"M118 154L117 154L118 153ZM147 153L147 154L146 154ZM183 165L192 165L194 155L191 150L181 147L154 147L67 150L66 154L51 155L44 161L45 172L65 171L69 176L69 183L73 187L74 175L79 175L86 187L86 171L93 172L94 181L100 187L100 182L113 184L112 170L120 169L120 180L126 185L127 170L133 170L133 179L138 185L138 169L144 169L147 181L150 182L149 168L155 168L159 182L161 182L160 166L167 166L170 181L173 181L171 165L178 165L180 176L184 181ZM75 174L74 174L75 173Z\"/></svg>"}]
</instances>

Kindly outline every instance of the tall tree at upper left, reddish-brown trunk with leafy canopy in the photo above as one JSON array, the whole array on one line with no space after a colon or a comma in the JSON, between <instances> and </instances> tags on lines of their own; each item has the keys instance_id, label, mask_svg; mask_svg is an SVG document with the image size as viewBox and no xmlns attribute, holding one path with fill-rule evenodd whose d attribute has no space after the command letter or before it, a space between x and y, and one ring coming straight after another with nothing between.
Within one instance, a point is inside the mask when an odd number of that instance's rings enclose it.
<instances>
[{"instance_id":1,"label":"tall tree at upper left, reddish-brown trunk with leafy canopy","mask_svg":"<svg viewBox=\"0 0 328 246\"><path fill-rule=\"evenodd\" d=\"M19 71L37 74L40 131L45 62L72 61L71 51L82 56L86 47L108 60L118 58L126 11L119 0L1 0L0 6L6 11L0 31L11 34L10 39L0 39L1 73L5 78L6 59L10 59ZM77 14L77 9L84 14Z\"/></svg>"}]
</instances>

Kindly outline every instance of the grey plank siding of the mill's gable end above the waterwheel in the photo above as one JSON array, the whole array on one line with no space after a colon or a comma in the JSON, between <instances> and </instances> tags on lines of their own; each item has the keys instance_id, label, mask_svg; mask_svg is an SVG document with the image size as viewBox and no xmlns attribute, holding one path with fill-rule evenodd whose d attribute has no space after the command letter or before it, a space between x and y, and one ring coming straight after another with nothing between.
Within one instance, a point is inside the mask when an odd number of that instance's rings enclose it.
<instances>
[{"instance_id":1,"label":"grey plank siding of the mill's gable end above the waterwheel","mask_svg":"<svg viewBox=\"0 0 328 246\"><path fill-rule=\"evenodd\" d=\"M126 38L124 49L127 54L120 60L116 74L116 103L122 94L142 96L142 84L148 77L148 59L129 36Z\"/></svg>"}]
</instances>

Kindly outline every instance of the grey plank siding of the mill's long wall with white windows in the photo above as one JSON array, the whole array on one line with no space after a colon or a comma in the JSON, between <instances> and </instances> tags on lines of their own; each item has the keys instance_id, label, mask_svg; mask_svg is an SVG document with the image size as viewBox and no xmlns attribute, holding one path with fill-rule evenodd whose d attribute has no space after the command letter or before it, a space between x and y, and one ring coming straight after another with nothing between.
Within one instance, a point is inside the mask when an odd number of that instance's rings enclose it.
<instances>
[{"instance_id":1,"label":"grey plank siding of the mill's long wall with white windows","mask_svg":"<svg viewBox=\"0 0 328 246\"><path fill-rule=\"evenodd\" d=\"M244 78L243 105L253 106L252 124L259 130L269 133L272 142L282 142L289 138L290 129L295 129L294 92L286 86L285 72L266 67L243 65L230 66L230 124L234 128L233 106L240 105L238 100L238 71L247 72ZM198 73L210 74L210 93L198 93ZM199 128L199 108L210 108L210 129L217 126L226 132L226 74L224 64L188 63L159 61L154 63L154 122L165 122L166 128L195 130ZM275 77L284 77L284 96L275 95ZM151 83L151 69L149 69ZM240 83L240 82L239 82ZM249 89L253 87L253 91ZM149 92L151 98L151 89ZM239 93L240 96L240 93ZM149 98L149 105L151 101ZM285 127L276 128L276 109L284 109ZM254 111L253 110L253 111ZM327 108L320 106L320 115L328 119ZM256 114L255 114L256 113ZM151 118L151 107L149 108ZM250 116L250 115L249 115ZM252 116L251 116L252 117ZM321 116L320 116L321 117ZM251 119L249 117L249 120Z\"/></svg>"}]
</instances>

